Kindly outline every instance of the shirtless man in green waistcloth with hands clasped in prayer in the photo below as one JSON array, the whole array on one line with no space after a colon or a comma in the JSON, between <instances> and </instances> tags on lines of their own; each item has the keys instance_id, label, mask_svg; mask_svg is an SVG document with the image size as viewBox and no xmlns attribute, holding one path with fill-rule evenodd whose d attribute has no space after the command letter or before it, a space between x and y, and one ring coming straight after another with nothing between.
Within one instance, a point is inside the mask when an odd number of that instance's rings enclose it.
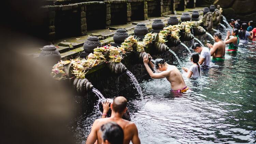
<instances>
[{"instance_id":1,"label":"shirtless man in green waistcloth with hands clasped in prayer","mask_svg":"<svg viewBox=\"0 0 256 144\"><path fill-rule=\"evenodd\" d=\"M224 41L222 41L221 33L216 32L214 33L214 40L216 43L207 44L207 46L210 48L210 53L212 56L212 60L224 60L225 59L225 47L226 44Z\"/></svg>"}]
</instances>

